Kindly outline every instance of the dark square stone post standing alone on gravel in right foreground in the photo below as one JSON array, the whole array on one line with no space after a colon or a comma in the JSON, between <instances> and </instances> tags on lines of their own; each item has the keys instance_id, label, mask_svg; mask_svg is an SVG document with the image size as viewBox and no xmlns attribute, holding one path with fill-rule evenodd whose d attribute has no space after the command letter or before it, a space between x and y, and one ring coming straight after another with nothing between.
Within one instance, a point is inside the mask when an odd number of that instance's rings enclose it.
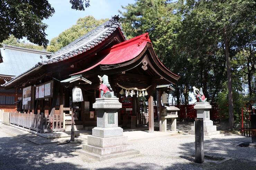
<instances>
[{"instance_id":1,"label":"dark square stone post standing alone on gravel in right foreground","mask_svg":"<svg viewBox=\"0 0 256 170\"><path fill-rule=\"evenodd\" d=\"M203 118L195 118L195 162L203 161Z\"/></svg>"}]
</instances>

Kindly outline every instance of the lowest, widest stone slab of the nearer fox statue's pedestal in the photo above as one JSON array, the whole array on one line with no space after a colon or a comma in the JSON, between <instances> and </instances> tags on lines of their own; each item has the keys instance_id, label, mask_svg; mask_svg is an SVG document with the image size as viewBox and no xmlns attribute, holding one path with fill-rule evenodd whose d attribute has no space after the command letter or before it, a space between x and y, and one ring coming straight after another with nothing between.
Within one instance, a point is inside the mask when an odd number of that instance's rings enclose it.
<instances>
[{"instance_id":1,"label":"lowest, widest stone slab of the nearer fox statue's pedestal","mask_svg":"<svg viewBox=\"0 0 256 170\"><path fill-rule=\"evenodd\" d=\"M119 152L119 153L111 153L111 154L106 154L106 155L99 155L91 152L87 152L83 149L76 150L77 152L81 154L85 154L86 156L96 159L98 161L106 160L106 159L112 159L112 158L118 158L118 157L123 157L123 156L128 156L128 155L133 155L133 154L139 154L138 150L130 150L126 152Z\"/></svg>"}]
</instances>

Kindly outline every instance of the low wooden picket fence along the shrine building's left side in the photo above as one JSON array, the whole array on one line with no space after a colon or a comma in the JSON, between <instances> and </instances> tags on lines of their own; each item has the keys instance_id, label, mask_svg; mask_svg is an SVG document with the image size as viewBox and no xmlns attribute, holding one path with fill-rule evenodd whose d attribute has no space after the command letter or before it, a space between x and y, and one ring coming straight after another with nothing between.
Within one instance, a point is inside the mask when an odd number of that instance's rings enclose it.
<instances>
[{"instance_id":1,"label":"low wooden picket fence along the shrine building's left side","mask_svg":"<svg viewBox=\"0 0 256 170\"><path fill-rule=\"evenodd\" d=\"M49 118L47 116L44 117L44 113L10 113L10 125L40 133L65 130L63 118L60 115L54 115Z\"/></svg>"}]
</instances>

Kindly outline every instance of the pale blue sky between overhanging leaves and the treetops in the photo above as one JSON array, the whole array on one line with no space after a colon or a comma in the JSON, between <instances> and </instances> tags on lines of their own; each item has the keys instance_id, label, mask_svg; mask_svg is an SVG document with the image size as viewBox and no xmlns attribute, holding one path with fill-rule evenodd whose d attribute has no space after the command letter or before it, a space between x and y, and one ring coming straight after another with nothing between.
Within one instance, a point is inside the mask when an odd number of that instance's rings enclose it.
<instances>
[{"instance_id":1,"label":"pale blue sky between overhanging leaves and the treetops","mask_svg":"<svg viewBox=\"0 0 256 170\"><path fill-rule=\"evenodd\" d=\"M85 11L76 11L71 9L69 0L48 1L55 9L53 16L43 21L48 25L46 33L49 41L70 28L81 17L91 15L96 19L110 18L119 14L118 10L121 10L121 6L135 2L135 0L90 0L91 6L89 8L85 8Z\"/></svg>"}]
</instances>

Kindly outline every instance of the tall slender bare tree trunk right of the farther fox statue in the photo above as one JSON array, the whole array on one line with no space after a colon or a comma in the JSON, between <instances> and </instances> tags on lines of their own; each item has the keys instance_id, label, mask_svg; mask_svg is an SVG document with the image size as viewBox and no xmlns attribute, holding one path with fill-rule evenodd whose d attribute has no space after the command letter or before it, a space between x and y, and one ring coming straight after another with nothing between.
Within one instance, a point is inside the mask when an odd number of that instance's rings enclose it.
<instances>
[{"instance_id":1,"label":"tall slender bare tree trunk right of the farther fox statue","mask_svg":"<svg viewBox=\"0 0 256 170\"><path fill-rule=\"evenodd\" d=\"M234 127L234 114L233 114L233 94L232 94L232 79L231 79L231 68L229 61L229 47L227 37L227 27L224 28L224 44L225 44L225 55L227 62L227 78L228 78L228 115L229 115L229 129L233 130Z\"/></svg>"}]
</instances>

